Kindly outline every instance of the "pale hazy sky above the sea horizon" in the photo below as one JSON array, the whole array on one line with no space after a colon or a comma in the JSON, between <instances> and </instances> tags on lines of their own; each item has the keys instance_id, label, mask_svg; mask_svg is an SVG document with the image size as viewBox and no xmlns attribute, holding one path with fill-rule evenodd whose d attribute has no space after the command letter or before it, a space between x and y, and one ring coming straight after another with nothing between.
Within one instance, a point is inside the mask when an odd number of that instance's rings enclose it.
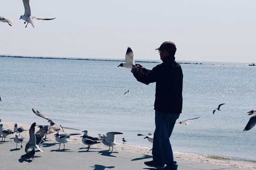
<instances>
[{"instance_id":1,"label":"pale hazy sky above the sea horizon","mask_svg":"<svg viewBox=\"0 0 256 170\"><path fill-rule=\"evenodd\" d=\"M256 63L256 0L0 0L0 55L159 60L164 41L177 61Z\"/></svg>"}]
</instances>

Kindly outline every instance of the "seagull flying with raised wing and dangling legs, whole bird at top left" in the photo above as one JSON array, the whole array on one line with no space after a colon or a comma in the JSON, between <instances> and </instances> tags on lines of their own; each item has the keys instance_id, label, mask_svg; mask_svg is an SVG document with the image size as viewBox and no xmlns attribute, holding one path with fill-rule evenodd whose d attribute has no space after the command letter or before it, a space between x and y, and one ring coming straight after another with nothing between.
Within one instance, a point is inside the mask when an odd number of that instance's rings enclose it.
<instances>
[{"instance_id":1,"label":"seagull flying with raised wing and dangling legs, whole bird at top left","mask_svg":"<svg viewBox=\"0 0 256 170\"><path fill-rule=\"evenodd\" d=\"M34 28L34 24L33 24L33 19L37 19L37 20L53 20L55 18L40 18L40 17L31 17L31 10L30 10L30 6L29 6L29 0L22 0L23 1L23 5L25 8L25 13L24 15L20 16L20 19L24 20L24 24L31 24ZM27 28L27 25L25 26L25 28Z\"/></svg>"}]
</instances>

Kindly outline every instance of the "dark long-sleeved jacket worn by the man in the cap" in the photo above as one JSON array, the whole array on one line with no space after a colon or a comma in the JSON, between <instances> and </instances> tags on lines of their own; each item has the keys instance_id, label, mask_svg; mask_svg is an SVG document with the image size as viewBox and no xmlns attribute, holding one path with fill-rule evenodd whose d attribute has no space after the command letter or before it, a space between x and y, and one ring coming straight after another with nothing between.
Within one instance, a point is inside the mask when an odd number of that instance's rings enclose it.
<instances>
[{"instance_id":1,"label":"dark long-sleeved jacket worn by the man in the cap","mask_svg":"<svg viewBox=\"0 0 256 170\"><path fill-rule=\"evenodd\" d=\"M174 56L164 57L163 63L152 70L133 73L137 81L150 84L156 82L155 110L164 113L182 113L183 73Z\"/></svg>"}]
</instances>

